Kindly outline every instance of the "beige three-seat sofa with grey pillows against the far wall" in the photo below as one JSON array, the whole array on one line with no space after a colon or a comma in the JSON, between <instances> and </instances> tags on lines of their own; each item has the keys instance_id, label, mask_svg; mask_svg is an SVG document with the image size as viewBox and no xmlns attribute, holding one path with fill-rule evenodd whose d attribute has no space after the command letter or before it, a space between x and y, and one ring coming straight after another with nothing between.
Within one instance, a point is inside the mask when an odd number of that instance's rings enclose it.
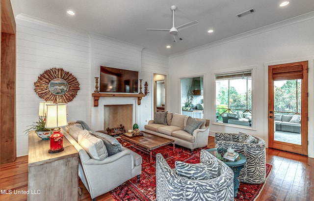
<instances>
[{"instance_id":1,"label":"beige three-seat sofa with grey pillows against the far wall","mask_svg":"<svg viewBox=\"0 0 314 201\"><path fill-rule=\"evenodd\" d=\"M163 112L165 121L162 122L162 112L155 113L155 120L150 120L145 125L145 132L175 140L175 144L191 150L208 145L210 121L206 119L196 119L177 113ZM159 118L161 116L161 118ZM190 122L202 122L200 126L193 129Z\"/></svg>"}]
</instances>

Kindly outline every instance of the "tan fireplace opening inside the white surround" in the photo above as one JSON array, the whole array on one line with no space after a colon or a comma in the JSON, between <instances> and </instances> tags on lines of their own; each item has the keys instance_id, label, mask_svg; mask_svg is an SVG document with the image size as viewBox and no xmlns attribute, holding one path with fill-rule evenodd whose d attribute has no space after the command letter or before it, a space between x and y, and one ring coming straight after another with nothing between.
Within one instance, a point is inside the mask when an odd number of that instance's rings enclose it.
<instances>
[{"instance_id":1,"label":"tan fireplace opening inside the white surround","mask_svg":"<svg viewBox=\"0 0 314 201\"><path fill-rule=\"evenodd\" d=\"M120 125L126 130L132 128L133 105L104 105L104 130L106 128L115 128Z\"/></svg>"}]
</instances>

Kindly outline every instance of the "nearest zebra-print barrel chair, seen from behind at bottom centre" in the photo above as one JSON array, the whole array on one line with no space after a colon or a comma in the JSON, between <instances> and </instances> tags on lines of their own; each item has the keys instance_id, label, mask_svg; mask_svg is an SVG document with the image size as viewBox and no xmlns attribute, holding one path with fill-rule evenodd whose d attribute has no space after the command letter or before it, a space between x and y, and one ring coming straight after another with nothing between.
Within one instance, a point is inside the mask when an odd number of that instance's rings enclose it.
<instances>
[{"instance_id":1,"label":"nearest zebra-print barrel chair, seen from behind at bottom centre","mask_svg":"<svg viewBox=\"0 0 314 201\"><path fill-rule=\"evenodd\" d=\"M214 157L201 150L206 157ZM207 152L207 153L206 153ZM234 173L217 160L218 175L212 179L196 180L179 176L160 153L156 155L157 201L234 201Z\"/></svg>"}]
</instances>

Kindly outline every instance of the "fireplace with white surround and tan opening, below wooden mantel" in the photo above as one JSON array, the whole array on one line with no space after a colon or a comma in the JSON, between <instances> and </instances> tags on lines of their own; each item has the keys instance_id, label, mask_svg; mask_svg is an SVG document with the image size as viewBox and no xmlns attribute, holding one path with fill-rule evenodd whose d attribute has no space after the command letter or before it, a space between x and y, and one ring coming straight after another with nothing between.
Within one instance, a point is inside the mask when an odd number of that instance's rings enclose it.
<instances>
[{"instance_id":1,"label":"fireplace with white surround and tan opening, below wooden mantel","mask_svg":"<svg viewBox=\"0 0 314 201\"><path fill-rule=\"evenodd\" d=\"M137 97L100 97L98 107L92 108L92 128L105 130L107 127L132 128L137 121Z\"/></svg>"}]
</instances>

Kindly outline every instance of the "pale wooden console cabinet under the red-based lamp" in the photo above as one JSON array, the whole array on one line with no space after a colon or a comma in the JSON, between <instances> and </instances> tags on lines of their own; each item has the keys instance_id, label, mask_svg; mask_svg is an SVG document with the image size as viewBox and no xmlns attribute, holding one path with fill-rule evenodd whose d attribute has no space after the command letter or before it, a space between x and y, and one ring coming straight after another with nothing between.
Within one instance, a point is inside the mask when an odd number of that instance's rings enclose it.
<instances>
[{"instance_id":1,"label":"pale wooden console cabinet under the red-based lamp","mask_svg":"<svg viewBox=\"0 0 314 201\"><path fill-rule=\"evenodd\" d=\"M28 201L78 201L78 151L63 137L64 151L48 153L50 140L28 135Z\"/></svg>"}]
</instances>

